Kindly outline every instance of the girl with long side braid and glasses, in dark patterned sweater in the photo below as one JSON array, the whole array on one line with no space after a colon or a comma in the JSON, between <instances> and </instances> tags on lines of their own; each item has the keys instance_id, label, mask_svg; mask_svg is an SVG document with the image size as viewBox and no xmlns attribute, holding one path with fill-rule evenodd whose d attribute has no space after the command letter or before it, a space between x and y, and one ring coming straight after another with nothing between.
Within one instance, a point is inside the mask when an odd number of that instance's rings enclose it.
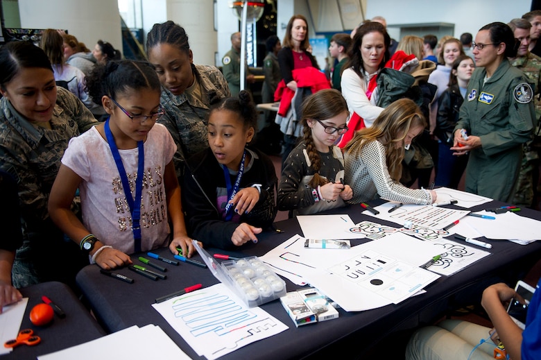
<instances>
[{"instance_id":1,"label":"girl with long side braid and glasses, in dark patterned sweater","mask_svg":"<svg viewBox=\"0 0 541 360\"><path fill-rule=\"evenodd\" d=\"M291 151L278 186L278 209L315 214L342 207L353 196L345 185L344 160L334 143L347 131L349 112L342 94L323 89L302 104L302 142Z\"/></svg>"}]
</instances>

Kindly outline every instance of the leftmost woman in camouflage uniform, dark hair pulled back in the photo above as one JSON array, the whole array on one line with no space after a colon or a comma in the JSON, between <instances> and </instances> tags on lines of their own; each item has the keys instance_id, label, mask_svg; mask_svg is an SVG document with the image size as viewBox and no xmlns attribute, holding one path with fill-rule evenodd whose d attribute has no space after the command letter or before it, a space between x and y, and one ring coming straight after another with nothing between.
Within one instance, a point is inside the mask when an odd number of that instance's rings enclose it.
<instances>
[{"instance_id":1,"label":"leftmost woman in camouflage uniform, dark hair pulled back","mask_svg":"<svg viewBox=\"0 0 541 360\"><path fill-rule=\"evenodd\" d=\"M88 259L53 225L47 201L69 139L97 121L74 94L55 85L49 58L30 42L0 49L0 93L0 169L17 182L24 237L13 285L57 280L74 286Z\"/></svg>"}]
</instances>

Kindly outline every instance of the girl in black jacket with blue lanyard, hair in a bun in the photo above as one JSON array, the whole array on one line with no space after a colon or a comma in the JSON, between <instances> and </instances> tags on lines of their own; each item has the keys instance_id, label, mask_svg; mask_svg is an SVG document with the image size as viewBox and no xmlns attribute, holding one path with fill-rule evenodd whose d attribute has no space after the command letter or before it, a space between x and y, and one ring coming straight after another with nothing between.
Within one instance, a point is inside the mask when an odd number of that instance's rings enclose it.
<instances>
[{"instance_id":1,"label":"girl in black jacket with blue lanyard, hair in a bun","mask_svg":"<svg viewBox=\"0 0 541 360\"><path fill-rule=\"evenodd\" d=\"M271 159L247 145L257 126L250 94L221 99L208 117L209 148L188 160L182 204L190 234L213 248L252 241L276 216Z\"/></svg>"}]
</instances>

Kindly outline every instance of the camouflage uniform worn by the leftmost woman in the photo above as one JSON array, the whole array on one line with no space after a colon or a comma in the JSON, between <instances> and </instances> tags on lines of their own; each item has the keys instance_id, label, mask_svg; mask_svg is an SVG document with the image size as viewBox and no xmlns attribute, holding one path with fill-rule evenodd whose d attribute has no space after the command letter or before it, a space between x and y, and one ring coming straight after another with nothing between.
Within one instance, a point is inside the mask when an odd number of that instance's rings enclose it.
<instances>
[{"instance_id":1,"label":"camouflage uniform worn by the leftmost woman","mask_svg":"<svg viewBox=\"0 0 541 360\"><path fill-rule=\"evenodd\" d=\"M56 251L60 254L60 249L51 249L51 254L41 252L53 247L49 243L53 236L47 212L49 192L69 139L98 123L71 92L57 87L57 93L51 129L33 125L12 107L7 98L0 99L0 168L17 182L24 239L22 248L17 250L12 271L14 286L17 287L41 282L45 278L50 280L40 273L39 264L33 263L37 257L55 256ZM36 254L36 246L40 247L39 255ZM54 261L49 258L48 262Z\"/></svg>"}]
</instances>

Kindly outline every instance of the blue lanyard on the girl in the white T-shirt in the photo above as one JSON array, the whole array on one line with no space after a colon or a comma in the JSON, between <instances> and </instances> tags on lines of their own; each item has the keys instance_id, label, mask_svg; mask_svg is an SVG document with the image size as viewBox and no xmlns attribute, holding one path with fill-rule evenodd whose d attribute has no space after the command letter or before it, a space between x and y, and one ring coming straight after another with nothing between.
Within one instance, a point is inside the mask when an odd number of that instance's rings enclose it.
<instances>
[{"instance_id":1,"label":"blue lanyard on the girl in the white T-shirt","mask_svg":"<svg viewBox=\"0 0 541 360\"><path fill-rule=\"evenodd\" d=\"M109 128L109 119L105 121L105 137L107 137L107 142L109 143L109 148L111 149L114 163L117 164L120 179L122 180L124 195L126 195L126 201L128 201L128 206L130 207L130 213L132 215L133 239L135 241L135 252L141 252L141 226L139 225L139 219L141 218L141 193L143 192L143 173L145 166L143 142L137 142L137 150L139 151L139 154L137 160L137 179L135 180L134 201L132 191L130 189L130 182L128 182L128 176L126 175L126 169L124 169L119 149L117 148L117 144L114 142L114 137L112 136L111 129Z\"/></svg>"}]
</instances>

